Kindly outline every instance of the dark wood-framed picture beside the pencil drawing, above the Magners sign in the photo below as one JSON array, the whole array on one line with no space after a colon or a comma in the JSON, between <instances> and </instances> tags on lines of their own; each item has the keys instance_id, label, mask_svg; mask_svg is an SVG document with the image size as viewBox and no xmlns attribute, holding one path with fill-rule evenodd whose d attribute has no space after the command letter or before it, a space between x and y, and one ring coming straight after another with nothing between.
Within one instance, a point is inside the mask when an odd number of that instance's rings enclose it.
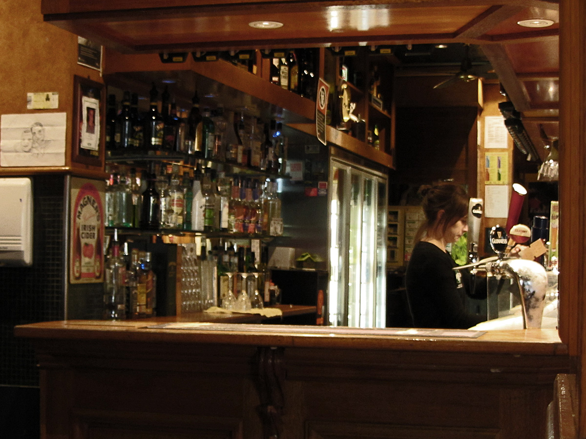
<instances>
[{"instance_id":1,"label":"dark wood-framed picture beside the pencil drawing, above the Magners sign","mask_svg":"<svg viewBox=\"0 0 586 439\"><path fill-rule=\"evenodd\" d=\"M74 76L73 102L71 161L103 166L104 144L101 130L105 112L104 84Z\"/></svg>"}]
</instances>

